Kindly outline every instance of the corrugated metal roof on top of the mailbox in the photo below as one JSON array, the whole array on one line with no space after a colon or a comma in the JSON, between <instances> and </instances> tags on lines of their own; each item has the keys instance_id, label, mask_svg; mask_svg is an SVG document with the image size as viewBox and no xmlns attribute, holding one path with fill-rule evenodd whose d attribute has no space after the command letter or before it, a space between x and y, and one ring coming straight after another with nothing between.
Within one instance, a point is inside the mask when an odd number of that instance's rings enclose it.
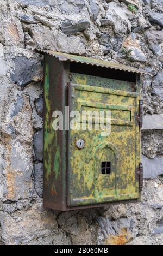
<instances>
[{"instance_id":1,"label":"corrugated metal roof on top of the mailbox","mask_svg":"<svg viewBox=\"0 0 163 256\"><path fill-rule=\"evenodd\" d=\"M62 52L57 52L57 51L52 51L52 50L36 50L39 53L47 53L49 55L52 55L56 58L58 58L60 61L71 61L71 62L79 62L79 63L85 63L85 64L91 64L92 66L99 66L99 67L105 67L105 68L111 68L111 69L118 69L118 70L123 70L127 72L133 72L137 74L149 74L148 72L145 72L143 70L129 67L123 64L118 64L115 62L109 62L109 61L101 61L99 59L92 59L92 58L87 58L83 56L78 56L78 55L71 55L67 53L62 53Z\"/></svg>"}]
</instances>

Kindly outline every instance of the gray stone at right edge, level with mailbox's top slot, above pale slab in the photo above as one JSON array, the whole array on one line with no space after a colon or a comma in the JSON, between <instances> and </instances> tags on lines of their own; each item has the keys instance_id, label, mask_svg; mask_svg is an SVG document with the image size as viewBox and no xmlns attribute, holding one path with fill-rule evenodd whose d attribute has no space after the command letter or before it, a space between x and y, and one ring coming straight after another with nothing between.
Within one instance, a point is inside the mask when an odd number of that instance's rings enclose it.
<instances>
[{"instance_id":1,"label":"gray stone at right edge, level with mailbox's top slot, above pale slab","mask_svg":"<svg viewBox=\"0 0 163 256\"><path fill-rule=\"evenodd\" d=\"M163 99L163 72L158 73L152 82L152 94Z\"/></svg>"}]
</instances>

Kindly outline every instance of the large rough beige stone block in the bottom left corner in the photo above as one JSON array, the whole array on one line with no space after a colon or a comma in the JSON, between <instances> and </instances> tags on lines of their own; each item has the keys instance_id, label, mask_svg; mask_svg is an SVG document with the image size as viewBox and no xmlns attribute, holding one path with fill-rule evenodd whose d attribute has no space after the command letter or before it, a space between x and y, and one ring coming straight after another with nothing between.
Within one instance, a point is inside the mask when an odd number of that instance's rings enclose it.
<instances>
[{"instance_id":1,"label":"large rough beige stone block in the bottom left corner","mask_svg":"<svg viewBox=\"0 0 163 256\"><path fill-rule=\"evenodd\" d=\"M45 210L42 203L35 203L28 211L16 211L9 215L0 212L2 242L7 245L23 245L40 237L57 235L58 224L55 215Z\"/></svg>"}]
</instances>

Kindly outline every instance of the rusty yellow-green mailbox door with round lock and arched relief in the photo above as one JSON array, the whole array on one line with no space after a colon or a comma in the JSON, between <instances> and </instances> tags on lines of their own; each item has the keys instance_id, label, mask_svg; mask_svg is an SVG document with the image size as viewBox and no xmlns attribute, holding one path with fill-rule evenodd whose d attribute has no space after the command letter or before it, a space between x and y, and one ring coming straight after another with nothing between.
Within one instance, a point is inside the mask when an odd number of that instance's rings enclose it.
<instances>
[{"instance_id":1,"label":"rusty yellow-green mailbox door with round lock and arched relief","mask_svg":"<svg viewBox=\"0 0 163 256\"><path fill-rule=\"evenodd\" d=\"M139 93L71 83L69 97L71 115L110 110L111 133L88 130L89 123L79 115L74 116L76 123L70 118L76 129L68 132L68 206L138 199ZM82 124L86 130L79 129ZM76 146L78 140L84 141L82 149Z\"/></svg>"}]
</instances>

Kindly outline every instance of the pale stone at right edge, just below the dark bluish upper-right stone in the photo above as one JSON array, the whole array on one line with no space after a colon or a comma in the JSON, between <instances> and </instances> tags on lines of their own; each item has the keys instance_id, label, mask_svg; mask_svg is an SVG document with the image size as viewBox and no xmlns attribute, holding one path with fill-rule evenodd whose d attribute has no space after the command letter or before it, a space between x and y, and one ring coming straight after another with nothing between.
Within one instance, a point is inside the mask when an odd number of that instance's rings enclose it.
<instances>
[{"instance_id":1,"label":"pale stone at right edge, just below the dark bluish upper-right stone","mask_svg":"<svg viewBox=\"0 0 163 256\"><path fill-rule=\"evenodd\" d=\"M148 39L149 49L154 53L160 55L162 53L163 30L148 31L146 33Z\"/></svg>"}]
</instances>

